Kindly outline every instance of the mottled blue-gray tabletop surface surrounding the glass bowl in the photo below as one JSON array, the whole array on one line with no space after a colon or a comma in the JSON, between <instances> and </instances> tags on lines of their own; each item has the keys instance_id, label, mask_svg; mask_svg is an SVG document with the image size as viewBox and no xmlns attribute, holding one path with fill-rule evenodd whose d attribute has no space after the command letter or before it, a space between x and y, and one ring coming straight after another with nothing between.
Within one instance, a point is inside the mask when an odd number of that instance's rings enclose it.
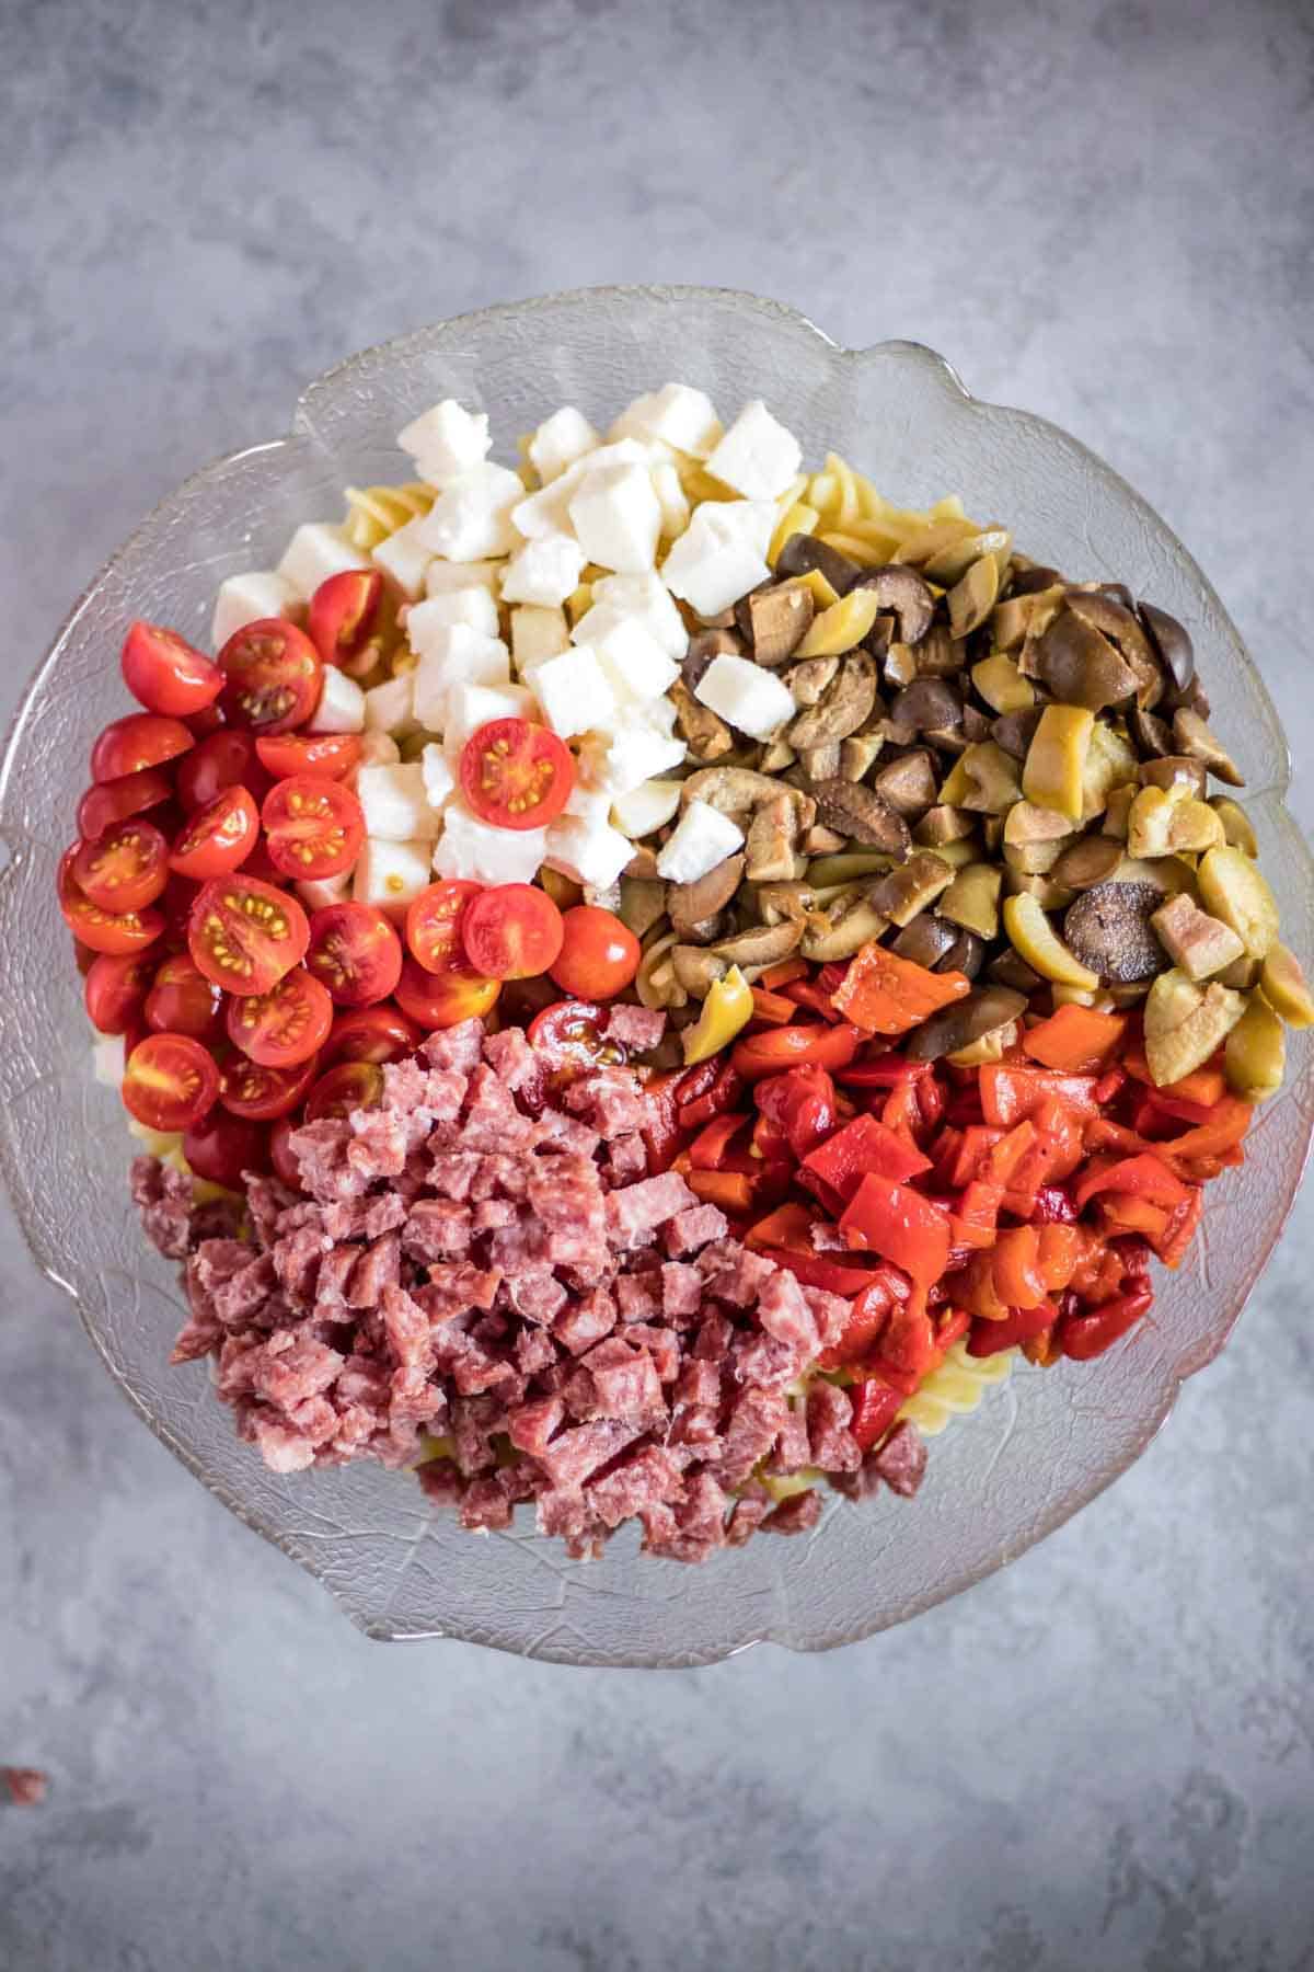
<instances>
[{"instance_id":1,"label":"mottled blue-gray tabletop surface surrounding the glass bowl","mask_svg":"<svg viewBox=\"0 0 1314 1972\"><path fill-rule=\"evenodd\" d=\"M1085 438L1310 757L1308 4L0 0L0 714L140 513L323 365L690 280ZM1312 1966L1312 1234L1011 1572L827 1658L642 1674L355 1635L132 1420L6 1217L0 1759L53 1791L0 1810L0 1964Z\"/></svg>"}]
</instances>

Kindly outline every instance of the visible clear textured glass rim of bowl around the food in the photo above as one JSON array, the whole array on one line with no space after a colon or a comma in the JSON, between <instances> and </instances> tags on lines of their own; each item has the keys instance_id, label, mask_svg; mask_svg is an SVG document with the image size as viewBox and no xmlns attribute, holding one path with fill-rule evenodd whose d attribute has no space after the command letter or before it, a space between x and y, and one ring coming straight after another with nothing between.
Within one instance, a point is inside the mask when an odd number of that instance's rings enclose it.
<instances>
[{"instance_id":1,"label":"visible clear textured glass rim of bowl around the food","mask_svg":"<svg viewBox=\"0 0 1314 1972\"><path fill-rule=\"evenodd\" d=\"M39 1266L77 1302L136 1412L370 1637L461 1637L573 1664L703 1664L764 1639L829 1649L955 1595L1145 1451L1241 1313L1310 1142L1314 1077L1308 1049L1294 1047L1284 1094L1263 1110L1245 1169L1212 1189L1202 1236L1182 1272L1160 1278L1150 1321L1093 1365L1020 1365L934 1442L914 1503L833 1499L810 1538L760 1538L703 1568L640 1558L632 1532L591 1564L530 1532L473 1540L412 1479L378 1467L276 1477L236 1442L205 1367L167 1367L175 1268L144 1244L128 1203L132 1144L116 1092L91 1079L53 885L91 741L124 710L124 623L144 615L203 639L225 576L272 566L296 523L341 511L347 483L410 475L392 434L439 396L485 408L506 448L556 404L607 424L668 377L703 385L727 410L764 396L808 459L843 452L908 505L961 493L1036 560L1121 578L1182 617L1249 783L1286 937L1310 956L1314 864L1282 807L1282 732L1217 596L1109 467L1042 418L975 402L930 349L839 349L749 294L632 288L491 308L329 371L288 436L219 459L150 515L91 584L20 708L0 779L0 1160Z\"/></svg>"}]
</instances>

